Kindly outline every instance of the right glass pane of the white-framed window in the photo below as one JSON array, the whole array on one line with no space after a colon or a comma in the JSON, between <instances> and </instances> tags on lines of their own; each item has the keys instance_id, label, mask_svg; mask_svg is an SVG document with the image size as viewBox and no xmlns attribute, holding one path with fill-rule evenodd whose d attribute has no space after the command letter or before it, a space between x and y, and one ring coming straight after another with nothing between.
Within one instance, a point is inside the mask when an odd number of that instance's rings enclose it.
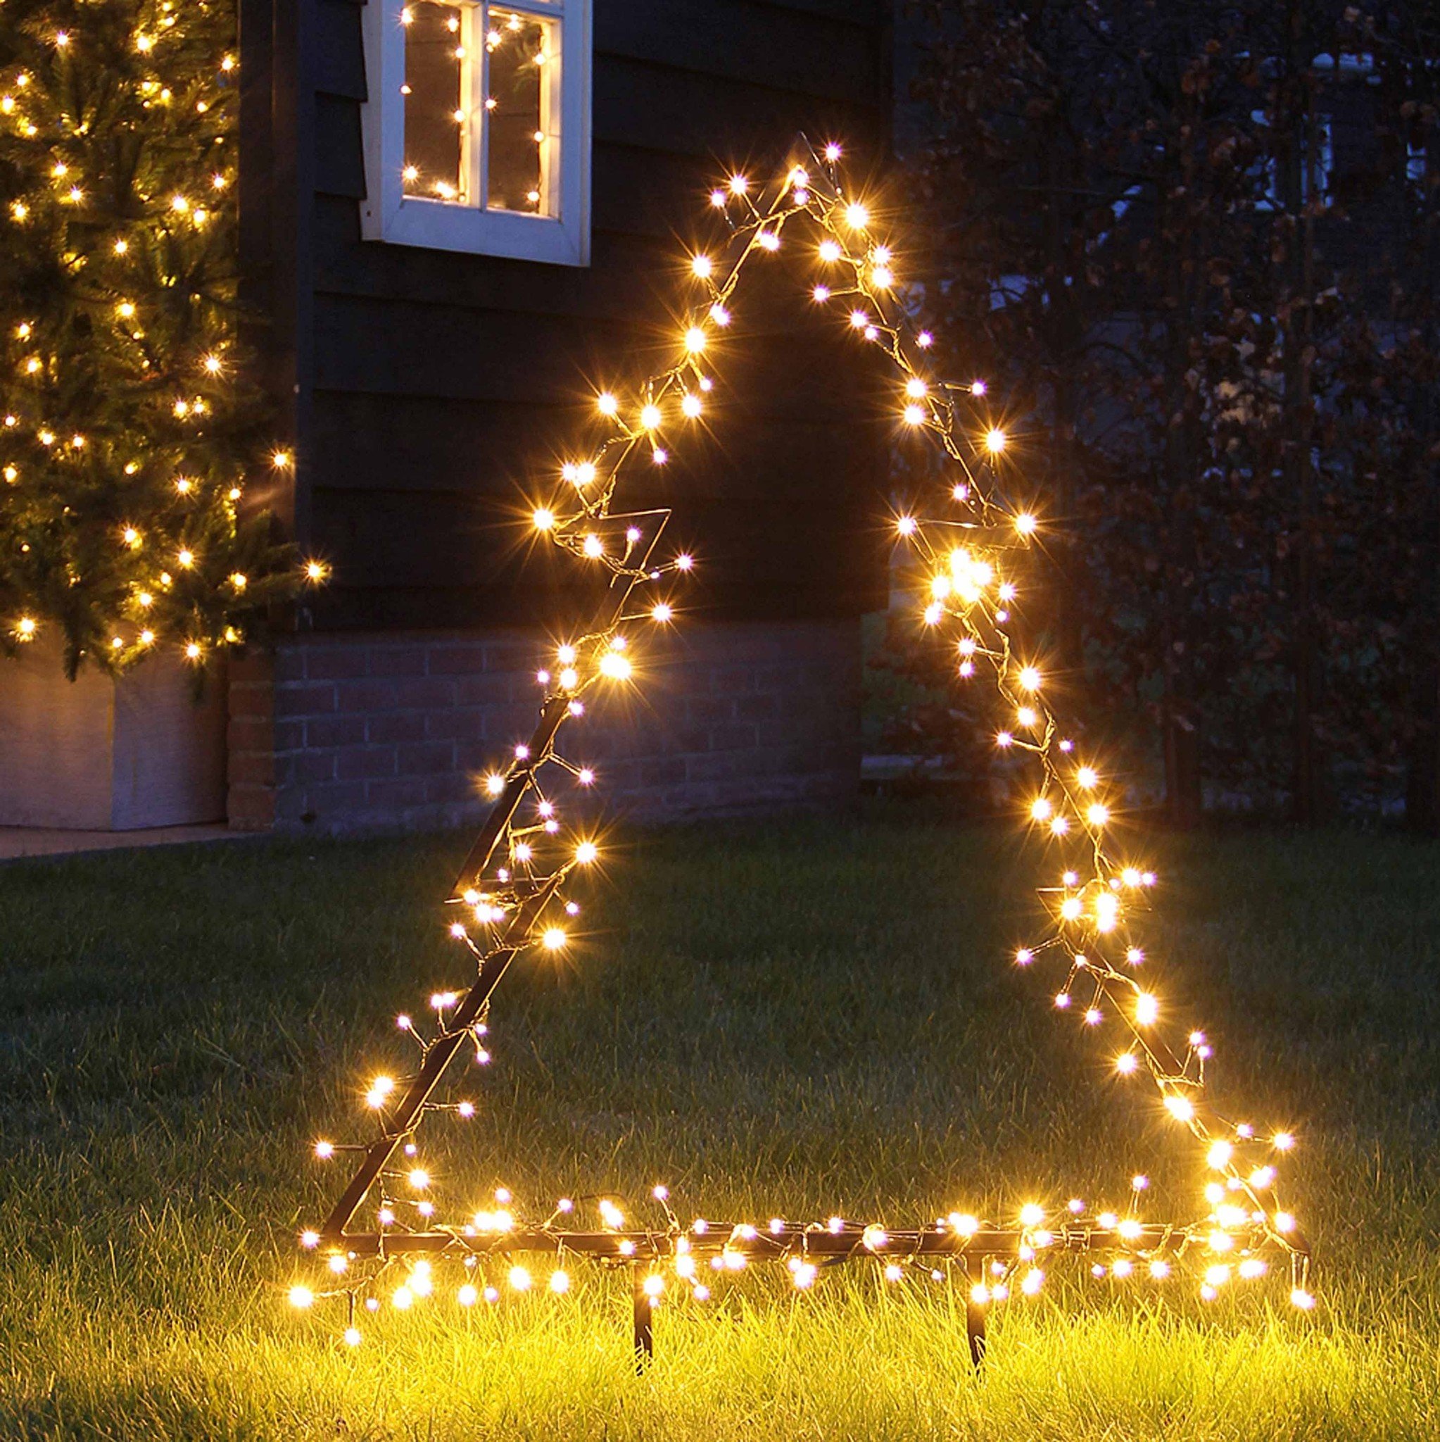
<instances>
[{"instance_id":1,"label":"right glass pane of the white-framed window","mask_svg":"<svg viewBox=\"0 0 1440 1442\"><path fill-rule=\"evenodd\" d=\"M552 20L490 10L489 185L497 211L555 215L551 153L559 143L559 26Z\"/></svg>"}]
</instances>

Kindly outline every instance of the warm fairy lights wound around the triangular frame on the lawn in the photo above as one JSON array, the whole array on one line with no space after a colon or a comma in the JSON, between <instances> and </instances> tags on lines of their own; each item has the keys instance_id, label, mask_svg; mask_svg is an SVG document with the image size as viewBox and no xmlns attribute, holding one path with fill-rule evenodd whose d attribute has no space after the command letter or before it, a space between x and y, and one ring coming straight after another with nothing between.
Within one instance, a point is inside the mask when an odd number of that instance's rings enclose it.
<instances>
[{"instance_id":1,"label":"warm fairy lights wound around the triangular frame on the lawn","mask_svg":"<svg viewBox=\"0 0 1440 1442\"><path fill-rule=\"evenodd\" d=\"M1307 1289L1309 1244L1276 1195L1277 1162L1293 1136L1261 1133L1212 1107L1205 1087L1211 1044L1204 1032L1179 1027L1143 981L1146 955L1133 921L1156 878L1140 862L1113 855L1113 786L1051 709L1044 663L1012 643L1015 575L1044 526L997 492L995 461L1005 451L1005 433L987 423L977 430L961 412L963 402L974 405L983 397L979 382L948 384L927 365L933 336L907 313L894 254L869 206L846 189L839 147L816 153L800 143L796 154L765 186L735 174L714 190L711 202L728 222L729 241L722 254L689 261L696 298L686 307L673 363L630 395L597 395L604 437L588 456L566 461L554 495L533 508L533 532L598 568L608 588L590 624L561 643L538 672L543 701L535 734L483 782L494 809L451 897L460 916L451 933L474 955L476 982L464 992L431 996L435 1022L428 1031L399 1018L401 1030L419 1045L419 1066L404 1084L389 1076L370 1083L366 1103L379 1118L379 1135L363 1144L316 1146L321 1161L353 1152L360 1165L327 1221L301 1239L326 1257L330 1279L295 1283L291 1301L308 1306L317 1296L347 1299L350 1344L360 1341L362 1311L379 1311L386 1302L404 1311L431 1295L441 1260L458 1263L453 1296L460 1306L542 1286L565 1292L571 1257L630 1266L637 1305L652 1305L667 1291L703 1301L716 1278L752 1262L780 1262L797 1288L809 1288L827 1262L872 1257L892 1282L907 1276L946 1282L960 1268L972 1308L985 1308L1010 1295L1035 1295L1049 1259L1067 1252L1084 1253L1095 1276L1117 1282L1162 1282L1182 1268L1196 1275L1206 1301L1235 1282L1264 1276L1280 1257L1290 1262L1294 1305L1315 1305ZM505 1188L458 1223L437 1220L434 1178L419 1156L417 1129L427 1112L448 1110L464 1120L474 1115L474 1103L434 1102L435 1086L461 1051L479 1063L489 1060L494 986L515 956L568 945L568 923L578 911L568 884L600 855L591 835L562 825L548 777L558 774L585 789L595 776L555 748L556 733L585 714L591 691L634 681L636 655L643 650L634 645L637 629L673 622L670 585L692 565L683 552L657 558L663 512L614 510L620 485L634 467L663 466L673 437L705 414L715 384L708 358L731 323L742 273L780 251L801 226L806 239L799 244L813 245L807 254L820 268L814 304L840 313L848 330L889 358L898 423L933 437L954 467L947 482L953 513L897 516L895 534L923 570L918 610L925 626L954 645L957 679L989 672L997 686L1002 715L995 744L1032 758L1035 783L1023 818L1046 838L1054 872L1039 891L1041 934L1015 962L1055 963L1061 976L1055 1008L1100 1035L1117 1035L1114 1071L1149 1077L1159 1115L1194 1141L1205 1177L1194 1220L1143 1218L1145 1177L1132 1180L1126 1206L1113 1211L1091 1213L1078 1198L1058 1207L1026 1201L1012 1217L954 1211L907 1230L840 1216L812 1223L784 1217L683 1223L665 1187L650 1197L650 1226L627 1220L626 1203L615 1195L564 1198L546 1217L526 1220ZM373 1227L352 1230L362 1207L373 1208ZM582 1213L594 1214L588 1230L579 1226ZM545 1276L519 1260L526 1253L551 1257Z\"/></svg>"}]
</instances>

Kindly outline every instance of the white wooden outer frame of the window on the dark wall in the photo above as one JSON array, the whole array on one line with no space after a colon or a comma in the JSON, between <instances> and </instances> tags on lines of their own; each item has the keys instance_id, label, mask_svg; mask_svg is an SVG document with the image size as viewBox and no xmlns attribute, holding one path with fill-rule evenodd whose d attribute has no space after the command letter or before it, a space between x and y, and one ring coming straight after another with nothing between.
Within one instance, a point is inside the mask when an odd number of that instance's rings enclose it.
<instances>
[{"instance_id":1,"label":"white wooden outer frame of the window on the dark wall","mask_svg":"<svg viewBox=\"0 0 1440 1442\"><path fill-rule=\"evenodd\" d=\"M559 162L555 215L487 211L405 195L405 0L365 6L365 199L368 241L421 245L471 255L502 255L551 265L590 264L591 0L517 0L505 9L559 25L559 136L548 141ZM554 170L552 170L554 174Z\"/></svg>"}]
</instances>

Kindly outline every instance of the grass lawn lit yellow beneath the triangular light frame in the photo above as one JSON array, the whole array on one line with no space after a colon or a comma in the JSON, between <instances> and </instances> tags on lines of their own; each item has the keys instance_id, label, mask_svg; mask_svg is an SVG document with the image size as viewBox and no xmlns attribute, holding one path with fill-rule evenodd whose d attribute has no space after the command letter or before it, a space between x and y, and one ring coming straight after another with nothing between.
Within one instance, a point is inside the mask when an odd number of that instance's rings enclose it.
<instances>
[{"instance_id":1,"label":"grass lawn lit yellow beneath the triangular light frame","mask_svg":"<svg viewBox=\"0 0 1440 1442\"><path fill-rule=\"evenodd\" d=\"M577 1270L339 1345L342 1314L285 1302L343 1184L308 1146L365 1135L395 1014L464 982L437 903L467 839L0 868L0 1436L1440 1433L1440 849L1343 832L1157 857L1157 989L1217 1041L1225 1109L1300 1136L1309 1317L1279 1276L1205 1308L1057 1268L976 1380L959 1291L747 1275L662 1308L637 1379L624 1279ZM447 1194L543 1216L666 1181L682 1214L891 1224L1119 1203L1137 1169L1194 1197L1153 1090L1006 965L1021 859L917 809L634 836L574 960L506 978L479 1116L427 1123Z\"/></svg>"}]
</instances>

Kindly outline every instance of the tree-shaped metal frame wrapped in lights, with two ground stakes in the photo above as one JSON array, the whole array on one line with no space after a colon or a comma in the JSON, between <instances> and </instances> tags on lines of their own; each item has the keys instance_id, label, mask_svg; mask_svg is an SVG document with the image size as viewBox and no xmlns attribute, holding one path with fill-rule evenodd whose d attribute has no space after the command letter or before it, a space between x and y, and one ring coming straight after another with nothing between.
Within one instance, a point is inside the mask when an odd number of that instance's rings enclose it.
<instances>
[{"instance_id":1,"label":"tree-shaped metal frame wrapped in lights, with two ground stakes","mask_svg":"<svg viewBox=\"0 0 1440 1442\"><path fill-rule=\"evenodd\" d=\"M1162 1040L1159 1004L1134 979L1143 952L1129 930L1129 917L1143 910L1143 893L1153 877L1107 854L1104 832L1110 815L1108 806L1097 799L1100 777L1094 767L1078 763L1072 743L1041 701L1038 668L1022 663L1012 653L1006 623L1015 587L1002 578L1000 567L1023 551L1038 523L996 493L990 461L1003 448L1003 434L990 428L982 446L961 438L967 427L957 414L957 404L982 395L983 389L931 376L925 365L930 337L911 322L897 298L889 251L869 241L868 211L846 193L837 160L837 147L817 153L801 136L790 159L755 198L742 179L732 179L726 189L712 195L715 209L729 222L731 236L721 260L703 255L692 260L693 275L705 286L705 293L685 327L683 358L644 382L637 394L639 407L630 408L637 414L634 421L626 418L618 401L608 395L600 398L611 434L591 457L564 469L562 476L571 487L564 502L535 509L536 532L572 551L587 565L598 567L601 575L608 575L608 584L585 630L559 649L556 672L539 673L543 701L529 741L517 746L505 771L487 782L494 805L450 897L457 916L474 919L474 924L464 920L451 926L455 939L474 955L474 982L458 996L441 998L440 1031L421 1043L421 1064L408 1083L394 1094L388 1089L378 1093L372 1089L370 1102L381 1115L379 1135L362 1145L320 1144L317 1148L323 1156L339 1151L360 1154L355 1175L324 1224L303 1237L306 1246L329 1256L333 1273L346 1278L324 1295L349 1298L349 1340L359 1337L353 1328L355 1305L359 1292L366 1289L365 1283L357 1285L346 1276L352 1262L378 1260L382 1269L394 1262L411 1266L412 1276L428 1278L428 1270L418 1273L414 1269L428 1268L430 1259L441 1256L474 1266L481 1259L535 1252L571 1253L630 1269L634 1348L641 1364L653 1351L653 1306L663 1286L660 1269L672 1269L699 1295L706 1291L695 1283L701 1263L724 1273L751 1262L780 1262L790 1268L797 1285L809 1285L820 1266L855 1259L879 1260L886 1276L920 1268L944 1279L951 1268L959 1268L970 1288L966 1331L977 1366L985 1354L987 1305L1006 1295L1010 1279L1022 1268L1028 1270L1021 1289L1038 1289L1044 1278L1039 1263L1064 1253L1104 1257L1106 1262L1094 1266L1100 1270L1108 1266L1117 1278L1139 1275L1137 1268L1163 1278L1172 1260L1199 1257L1206 1279L1202 1295L1214 1295L1232 1269L1240 1278L1258 1276L1268 1257L1283 1256L1292 1263L1292 1299L1302 1308L1313 1304L1306 1291L1309 1243L1294 1220L1277 1210L1273 1198L1270 1156L1276 1149L1289 1149L1289 1136L1277 1133L1263 1141L1253 1128L1225 1122L1209 1109L1204 1094L1204 1064L1211 1048L1202 1034L1191 1032L1181 1050ZM735 208L741 211L738 219L732 215ZM1123 1218L1113 1214L1081 1217L1072 1204L1071 1214L1057 1221L1049 1221L1042 1208L1026 1207L1019 1224L951 1214L904 1230L840 1217L812 1224L775 1220L757 1227L696 1221L686 1227L670 1210L665 1190L656 1188L654 1200L666 1217L659 1229L627 1227L618 1210L613 1210L605 1214L603 1227L579 1230L565 1224L569 1208L564 1203L542 1226L517 1224L507 1211L483 1213L474 1223L461 1226L440 1226L430 1220L434 1207L427 1201L419 1204L417 1224L411 1226L399 1221L396 1208L402 1204L388 1194L386 1180L395 1175L388 1168L396 1152L415 1152L414 1138L424 1115L441 1106L432 1100L441 1079L461 1050L477 1044L490 999L510 963L530 947L551 945L555 936L561 937L555 945L564 945L562 929L555 924L566 906L564 887L577 867L592 859L594 848L582 842L565 859L554 855L549 861L541 859L538 852L549 854L559 845L555 839L559 825L542 773L556 769L587 782L588 773L556 750L561 728L571 717L584 714L584 696L591 689L628 679L623 627L644 622L666 624L672 619L670 606L663 600L649 610L634 610L637 594L653 596L663 577L689 568L689 558L683 555L669 562L657 559L669 512L614 512L617 485L637 461L665 460L659 435L676 410L685 420L699 415L702 397L714 384L703 366L703 353L729 323L728 301L744 267L757 255L780 248L787 222L807 222L819 229L820 261L837 270L842 280L835 286L816 286L816 301L856 303L849 314L850 329L862 340L879 345L895 363L904 388L902 421L931 433L956 467L959 479L950 497L960 509L960 519L920 522L899 516L897 535L914 547L928 575L925 623L951 626L959 633L959 675L970 676L979 663L987 663L995 672L1000 699L1013 718L997 733L997 744L1031 751L1041 767L1042 783L1029 805L1029 819L1062 849L1067 868L1059 885L1041 888L1051 919L1049 934L1034 949L1019 952L1016 962L1029 965L1041 953L1058 952L1067 979L1055 995L1057 1007L1070 1009L1078 983L1093 989L1091 1005L1085 1009L1088 1022L1113 1018L1123 1024L1127 1050L1120 1053L1117 1070L1121 1074L1147 1071L1165 1110L1205 1151L1211 1178L1205 1200L1211 1210L1198 1220L1142 1223L1133 1216L1136 1190L1132 1214ZM859 254L853 254L856 236L861 238ZM528 799L538 799L535 822L519 818ZM1077 848L1083 857L1080 862L1075 861ZM409 1025L408 1019L402 1024ZM417 1175L425 1177L422 1171L412 1171L411 1180ZM419 1185L424 1188L428 1181ZM356 1213L376 1191L381 1224L352 1230ZM293 1289L293 1299L303 1304L313 1296L308 1288Z\"/></svg>"}]
</instances>

